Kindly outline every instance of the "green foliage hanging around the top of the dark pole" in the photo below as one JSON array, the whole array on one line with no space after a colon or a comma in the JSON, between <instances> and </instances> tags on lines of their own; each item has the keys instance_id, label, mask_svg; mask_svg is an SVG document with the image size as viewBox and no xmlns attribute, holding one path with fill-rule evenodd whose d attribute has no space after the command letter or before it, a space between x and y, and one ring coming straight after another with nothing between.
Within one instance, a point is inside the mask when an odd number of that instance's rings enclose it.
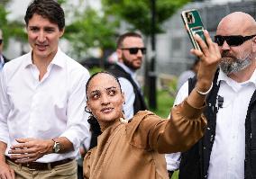
<instances>
[{"instance_id":1,"label":"green foliage hanging around the top of the dark pole","mask_svg":"<svg viewBox=\"0 0 256 179\"><path fill-rule=\"evenodd\" d=\"M189 0L155 0L156 1L156 32L162 32L162 22L176 12L176 10ZM140 30L145 35L151 34L151 0L102 0L106 14L112 14L119 21L133 24L132 30Z\"/></svg>"}]
</instances>

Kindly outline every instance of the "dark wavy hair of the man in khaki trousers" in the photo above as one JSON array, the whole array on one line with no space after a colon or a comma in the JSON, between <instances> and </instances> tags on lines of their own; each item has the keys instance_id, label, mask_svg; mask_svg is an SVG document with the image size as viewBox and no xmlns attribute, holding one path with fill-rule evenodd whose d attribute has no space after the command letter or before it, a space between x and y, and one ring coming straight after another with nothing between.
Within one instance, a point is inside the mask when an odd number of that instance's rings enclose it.
<instances>
[{"instance_id":1,"label":"dark wavy hair of the man in khaki trousers","mask_svg":"<svg viewBox=\"0 0 256 179\"><path fill-rule=\"evenodd\" d=\"M47 18L52 23L58 24L59 31L62 31L65 27L64 11L54 0L32 1L24 17L27 26L34 13L41 15L43 18Z\"/></svg>"}]
</instances>

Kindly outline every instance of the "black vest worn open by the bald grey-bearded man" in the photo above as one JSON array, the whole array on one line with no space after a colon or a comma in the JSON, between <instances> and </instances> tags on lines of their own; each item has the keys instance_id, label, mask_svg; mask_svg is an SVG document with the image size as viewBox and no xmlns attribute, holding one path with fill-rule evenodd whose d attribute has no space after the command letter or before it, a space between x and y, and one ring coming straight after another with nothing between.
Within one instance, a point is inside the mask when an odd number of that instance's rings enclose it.
<instances>
[{"instance_id":1,"label":"black vest worn open by the bald grey-bearded man","mask_svg":"<svg viewBox=\"0 0 256 179\"><path fill-rule=\"evenodd\" d=\"M211 151L215 141L216 113L218 112L218 90L216 85L218 73L215 74L214 87L206 99L207 107L204 112L207 119L205 136L187 152L181 154L179 179L207 178ZM188 91L192 91L197 79L188 80ZM217 103L217 105L216 105ZM256 179L256 91L252 94L245 119L245 179Z\"/></svg>"}]
</instances>

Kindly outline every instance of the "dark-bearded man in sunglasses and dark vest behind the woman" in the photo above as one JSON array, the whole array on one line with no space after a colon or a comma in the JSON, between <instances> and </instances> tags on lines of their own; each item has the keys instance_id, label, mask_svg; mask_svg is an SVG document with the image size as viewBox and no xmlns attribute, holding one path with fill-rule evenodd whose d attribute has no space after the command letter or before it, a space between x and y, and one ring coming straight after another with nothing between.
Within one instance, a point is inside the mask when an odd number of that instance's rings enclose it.
<instances>
[{"instance_id":1,"label":"dark-bearded man in sunglasses and dark vest behind the woman","mask_svg":"<svg viewBox=\"0 0 256 179\"><path fill-rule=\"evenodd\" d=\"M142 36L136 32L126 32L117 40L118 62L108 71L118 77L125 97L123 112L125 118L131 119L136 112L146 110L142 90L135 79L136 70L142 67L146 54Z\"/></svg>"}]
</instances>

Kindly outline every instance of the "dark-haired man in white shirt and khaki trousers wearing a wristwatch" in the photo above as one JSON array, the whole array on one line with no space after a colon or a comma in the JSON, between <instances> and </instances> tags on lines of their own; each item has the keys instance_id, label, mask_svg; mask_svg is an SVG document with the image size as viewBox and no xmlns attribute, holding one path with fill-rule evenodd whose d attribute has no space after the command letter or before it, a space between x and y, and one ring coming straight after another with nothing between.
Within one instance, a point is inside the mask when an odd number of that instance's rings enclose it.
<instances>
[{"instance_id":1,"label":"dark-haired man in white shirt and khaki trousers wearing a wristwatch","mask_svg":"<svg viewBox=\"0 0 256 179\"><path fill-rule=\"evenodd\" d=\"M89 73L58 47L65 17L56 1L32 1L24 20L32 51L0 79L0 178L75 179Z\"/></svg>"}]
</instances>

